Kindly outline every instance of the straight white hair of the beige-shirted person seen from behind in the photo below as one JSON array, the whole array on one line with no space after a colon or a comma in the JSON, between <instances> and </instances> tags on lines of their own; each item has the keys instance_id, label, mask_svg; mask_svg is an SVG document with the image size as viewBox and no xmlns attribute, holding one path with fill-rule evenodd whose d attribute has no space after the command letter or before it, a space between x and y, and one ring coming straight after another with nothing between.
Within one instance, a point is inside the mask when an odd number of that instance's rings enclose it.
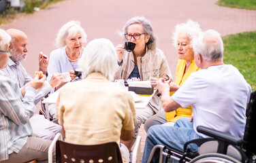
<instances>
[{"instance_id":1,"label":"straight white hair of the beige-shirted person seen from behind","mask_svg":"<svg viewBox=\"0 0 256 163\"><path fill-rule=\"evenodd\" d=\"M102 73L108 80L114 79L117 54L109 39L93 39L84 48L85 54L80 58L83 77L90 73Z\"/></svg>"}]
</instances>

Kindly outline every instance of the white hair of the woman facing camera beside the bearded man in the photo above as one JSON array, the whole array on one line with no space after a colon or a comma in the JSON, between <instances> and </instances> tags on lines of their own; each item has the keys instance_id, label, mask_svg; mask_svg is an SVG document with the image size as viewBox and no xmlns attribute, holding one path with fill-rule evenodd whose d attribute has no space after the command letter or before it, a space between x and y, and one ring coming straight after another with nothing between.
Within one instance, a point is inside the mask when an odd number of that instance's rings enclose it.
<instances>
[{"instance_id":1,"label":"white hair of the woman facing camera beside the bearded man","mask_svg":"<svg viewBox=\"0 0 256 163\"><path fill-rule=\"evenodd\" d=\"M59 29L59 32L57 34L57 37L55 39L56 46L58 48L62 48L65 46L65 39L74 37L78 33L82 35L82 41L85 43L87 41L87 35L84 32L84 29L80 26L80 22L78 20L71 20L61 26L61 29Z\"/></svg>"}]
</instances>

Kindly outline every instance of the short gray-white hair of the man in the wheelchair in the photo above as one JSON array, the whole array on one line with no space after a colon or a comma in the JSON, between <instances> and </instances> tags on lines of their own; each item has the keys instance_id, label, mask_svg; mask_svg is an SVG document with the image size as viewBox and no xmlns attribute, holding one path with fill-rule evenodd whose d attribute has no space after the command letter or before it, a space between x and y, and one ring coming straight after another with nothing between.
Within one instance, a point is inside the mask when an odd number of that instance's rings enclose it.
<instances>
[{"instance_id":1,"label":"short gray-white hair of the man in the wheelchair","mask_svg":"<svg viewBox=\"0 0 256 163\"><path fill-rule=\"evenodd\" d=\"M192 40L192 46L195 54L201 54L205 60L213 62L223 60L223 41L217 31L212 29L205 31Z\"/></svg>"}]
</instances>

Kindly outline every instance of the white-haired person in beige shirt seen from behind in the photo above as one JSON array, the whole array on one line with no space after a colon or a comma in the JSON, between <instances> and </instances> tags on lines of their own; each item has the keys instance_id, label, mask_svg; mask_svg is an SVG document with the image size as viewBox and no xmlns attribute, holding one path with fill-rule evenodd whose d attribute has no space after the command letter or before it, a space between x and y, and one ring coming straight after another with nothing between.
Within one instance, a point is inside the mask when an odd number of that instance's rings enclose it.
<instances>
[{"instance_id":1,"label":"white-haired person in beige shirt seen from behind","mask_svg":"<svg viewBox=\"0 0 256 163\"><path fill-rule=\"evenodd\" d=\"M80 59L84 79L63 86L57 100L57 117L65 130L65 141L94 145L128 140L133 132L135 109L127 90L111 81L117 54L108 39L94 39ZM129 150L121 145L129 162Z\"/></svg>"}]
</instances>

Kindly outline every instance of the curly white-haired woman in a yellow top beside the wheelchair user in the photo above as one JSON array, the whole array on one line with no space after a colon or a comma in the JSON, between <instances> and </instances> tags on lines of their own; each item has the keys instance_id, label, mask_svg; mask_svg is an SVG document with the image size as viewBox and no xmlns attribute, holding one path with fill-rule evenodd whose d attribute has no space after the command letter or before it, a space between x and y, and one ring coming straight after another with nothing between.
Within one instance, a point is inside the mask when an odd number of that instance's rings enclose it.
<instances>
[{"instance_id":1,"label":"curly white-haired woman in a yellow top beside the wheelchair user","mask_svg":"<svg viewBox=\"0 0 256 163\"><path fill-rule=\"evenodd\" d=\"M170 96L174 94L180 86L187 80L191 73L199 70L194 62L194 52L191 47L191 41L197 37L202 30L199 28L197 22L188 20L187 23L178 24L175 27L174 35L172 37L174 46L178 53L178 63L176 67L176 81L170 82ZM165 113L162 111L150 117L144 124L146 132L150 126L156 124L164 124L174 126L174 123L180 117L191 117L192 108L180 107L175 111ZM167 123L168 122L168 123Z\"/></svg>"}]
</instances>

